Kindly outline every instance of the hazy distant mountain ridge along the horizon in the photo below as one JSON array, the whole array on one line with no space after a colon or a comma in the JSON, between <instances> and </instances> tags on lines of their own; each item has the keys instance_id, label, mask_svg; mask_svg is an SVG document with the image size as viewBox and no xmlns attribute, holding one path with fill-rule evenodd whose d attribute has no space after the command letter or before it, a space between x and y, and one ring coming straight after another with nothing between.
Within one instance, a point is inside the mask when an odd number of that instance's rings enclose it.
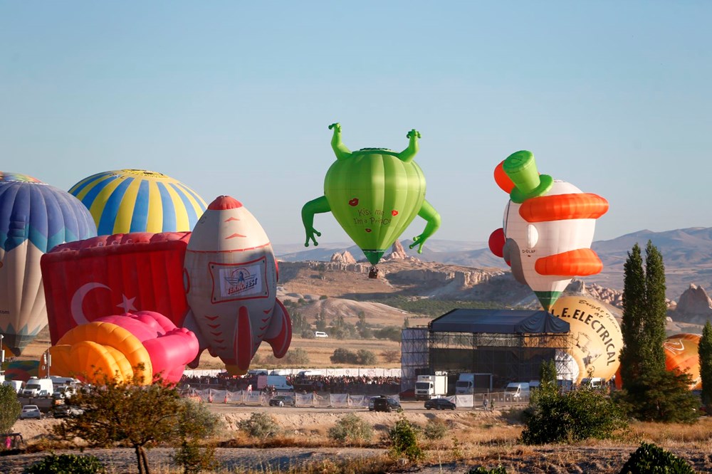
<instances>
[{"instance_id":1,"label":"hazy distant mountain ridge along the horizon","mask_svg":"<svg viewBox=\"0 0 712 474\"><path fill-rule=\"evenodd\" d=\"M585 283L595 283L605 288L622 290L623 265L628 252L635 243L644 249L649 240L661 251L663 256L667 297L671 300L678 300L690 285L698 285L706 290L712 290L712 228L704 227L664 232L643 230L608 241L595 241L592 248L600 256L604 270L599 275L582 278L582 280ZM406 253L424 262L508 270L504 260L489 251L487 243L431 239L424 246L423 253L409 249L410 243L412 241L402 241ZM360 249L349 243L330 243L303 251L294 251L294 248L294 246L285 246L285 250L288 251L283 253L279 253L279 248L276 248L277 257L287 262L327 262L330 261L334 253L348 251L356 260L363 259Z\"/></svg>"}]
</instances>

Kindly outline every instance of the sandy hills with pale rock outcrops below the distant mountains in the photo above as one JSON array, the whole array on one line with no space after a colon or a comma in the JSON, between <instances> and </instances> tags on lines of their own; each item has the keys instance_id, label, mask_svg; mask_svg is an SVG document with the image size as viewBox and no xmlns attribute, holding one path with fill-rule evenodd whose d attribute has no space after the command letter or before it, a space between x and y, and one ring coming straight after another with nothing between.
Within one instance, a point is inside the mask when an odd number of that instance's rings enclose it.
<instances>
[{"instance_id":1,"label":"sandy hills with pale rock outcrops below the distant mountains","mask_svg":"<svg viewBox=\"0 0 712 474\"><path fill-rule=\"evenodd\" d=\"M491 307L540 307L532 291L514 280L509 270L421 260L398 242L378 267L379 278L368 278L370 264L358 262L348 250L333 253L330 261L281 262L280 295L283 300L299 304L300 312L309 320L323 314L329 320L341 316L353 323L364 312L377 325L402 325L405 317L434 317L419 310L393 307L394 301L442 302L445 309L436 315L463 302ZM605 278L572 280L565 293L590 295L620 317L622 290L596 280ZM701 325L712 319L712 300L699 285L689 285L679 302L669 300L668 306L669 334L699 333Z\"/></svg>"}]
</instances>

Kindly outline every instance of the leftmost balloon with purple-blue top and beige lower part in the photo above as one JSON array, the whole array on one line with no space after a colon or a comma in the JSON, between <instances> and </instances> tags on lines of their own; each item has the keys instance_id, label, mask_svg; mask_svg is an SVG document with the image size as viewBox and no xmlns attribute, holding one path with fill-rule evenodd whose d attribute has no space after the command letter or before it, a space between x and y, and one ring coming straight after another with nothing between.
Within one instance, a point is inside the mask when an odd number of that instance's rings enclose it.
<instances>
[{"instance_id":1,"label":"leftmost balloon with purple-blue top and beige lower part","mask_svg":"<svg viewBox=\"0 0 712 474\"><path fill-rule=\"evenodd\" d=\"M0 332L15 355L47 325L43 253L95 235L89 211L67 191L0 172Z\"/></svg>"}]
</instances>

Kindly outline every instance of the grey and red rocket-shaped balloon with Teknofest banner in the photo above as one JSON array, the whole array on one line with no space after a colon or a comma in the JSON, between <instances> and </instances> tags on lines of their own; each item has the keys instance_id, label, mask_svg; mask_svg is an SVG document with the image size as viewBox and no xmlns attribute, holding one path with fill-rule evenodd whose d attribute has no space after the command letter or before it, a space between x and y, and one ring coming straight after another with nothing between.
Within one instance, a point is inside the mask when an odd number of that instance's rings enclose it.
<instances>
[{"instance_id":1,"label":"grey and red rocket-shaped balloon with Teknofest banner","mask_svg":"<svg viewBox=\"0 0 712 474\"><path fill-rule=\"evenodd\" d=\"M287 310L276 298L277 263L257 219L230 196L216 198L193 228L184 263L190 311L184 326L230 374L245 374L264 340L275 357L292 339Z\"/></svg>"}]
</instances>

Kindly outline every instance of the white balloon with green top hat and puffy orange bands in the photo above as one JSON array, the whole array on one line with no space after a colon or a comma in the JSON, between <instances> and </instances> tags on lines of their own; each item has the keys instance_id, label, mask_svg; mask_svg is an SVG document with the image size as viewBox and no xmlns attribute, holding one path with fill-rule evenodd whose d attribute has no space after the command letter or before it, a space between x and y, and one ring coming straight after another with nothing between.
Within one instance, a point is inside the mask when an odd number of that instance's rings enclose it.
<instances>
[{"instance_id":1,"label":"white balloon with green top hat and puffy orange bands","mask_svg":"<svg viewBox=\"0 0 712 474\"><path fill-rule=\"evenodd\" d=\"M540 175L528 151L501 162L495 181L510 194L510 201L503 228L490 236L490 249L506 260L515 279L528 285L548 311L572 278L602 270L591 243L596 219L608 211L608 201Z\"/></svg>"}]
</instances>

